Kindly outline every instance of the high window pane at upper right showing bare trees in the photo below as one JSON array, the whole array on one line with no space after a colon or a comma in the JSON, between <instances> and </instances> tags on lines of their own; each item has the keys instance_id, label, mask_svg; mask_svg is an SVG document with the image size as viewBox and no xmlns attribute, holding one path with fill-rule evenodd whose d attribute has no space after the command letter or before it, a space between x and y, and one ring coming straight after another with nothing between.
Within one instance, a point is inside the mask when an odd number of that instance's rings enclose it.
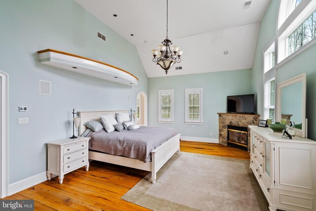
<instances>
[{"instance_id":1,"label":"high window pane at upper right showing bare trees","mask_svg":"<svg viewBox=\"0 0 316 211\"><path fill-rule=\"evenodd\" d=\"M288 55L310 42L316 37L316 11L312 13L290 36L288 40Z\"/></svg>"}]
</instances>

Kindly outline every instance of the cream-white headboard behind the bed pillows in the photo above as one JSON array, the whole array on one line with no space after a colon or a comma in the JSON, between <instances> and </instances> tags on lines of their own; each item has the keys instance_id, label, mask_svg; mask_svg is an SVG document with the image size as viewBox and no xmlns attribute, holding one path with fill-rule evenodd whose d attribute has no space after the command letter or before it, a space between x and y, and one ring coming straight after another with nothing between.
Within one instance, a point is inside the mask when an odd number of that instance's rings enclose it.
<instances>
[{"instance_id":1,"label":"cream-white headboard behind the bed pillows","mask_svg":"<svg viewBox=\"0 0 316 211\"><path fill-rule=\"evenodd\" d=\"M78 134L82 134L87 128L83 125L85 122L91 121L91 120L100 120L100 115L105 114L113 114L115 116L115 113L128 113L127 111L79 111L79 117L81 118L80 126L79 126L79 132Z\"/></svg>"}]
</instances>

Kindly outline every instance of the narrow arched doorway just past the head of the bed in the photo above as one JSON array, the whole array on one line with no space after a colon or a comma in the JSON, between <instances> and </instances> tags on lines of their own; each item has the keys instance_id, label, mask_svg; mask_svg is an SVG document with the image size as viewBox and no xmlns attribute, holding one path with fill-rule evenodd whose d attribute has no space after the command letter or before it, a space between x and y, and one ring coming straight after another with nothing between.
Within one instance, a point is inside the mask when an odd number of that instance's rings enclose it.
<instances>
[{"instance_id":1,"label":"narrow arched doorway just past the head of the bed","mask_svg":"<svg viewBox=\"0 0 316 211\"><path fill-rule=\"evenodd\" d=\"M136 95L136 120L141 126L148 126L148 96L145 91Z\"/></svg>"}]
</instances>

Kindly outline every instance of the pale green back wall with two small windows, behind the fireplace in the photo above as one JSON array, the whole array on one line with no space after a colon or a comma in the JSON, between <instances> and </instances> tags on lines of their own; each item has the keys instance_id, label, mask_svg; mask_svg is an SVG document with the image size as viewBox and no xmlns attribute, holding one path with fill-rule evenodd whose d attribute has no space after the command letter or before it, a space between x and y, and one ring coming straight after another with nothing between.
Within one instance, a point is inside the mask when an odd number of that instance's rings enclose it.
<instances>
[{"instance_id":1,"label":"pale green back wall with two small windows, behind the fireplace","mask_svg":"<svg viewBox=\"0 0 316 211\"><path fill-rule=\"evenodd\" d=\"M200 87L203 88L204 124L185 124L185 88ZM174 123L167 124L168 127L177 129L182 136L218 138L217 113L226 112L228 95L251 93L251 70L149 78L149 126L165 127L158 123L159 89L174 89Z\"/></svg>"}]
</instances>

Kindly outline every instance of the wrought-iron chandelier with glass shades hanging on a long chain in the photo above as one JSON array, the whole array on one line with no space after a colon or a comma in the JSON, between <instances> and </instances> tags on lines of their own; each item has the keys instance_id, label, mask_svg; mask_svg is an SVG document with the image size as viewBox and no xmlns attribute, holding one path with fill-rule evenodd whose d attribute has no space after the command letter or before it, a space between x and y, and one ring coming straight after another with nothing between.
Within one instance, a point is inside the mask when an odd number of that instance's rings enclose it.
<instances>
[{"instance_id":1,"label":"wrought-iron chandelier with glass shades hanging on a long chain","mask_svg":"<svg viewBox=\"0 0 316 211\"><path fill-rule=\"evenodd\" d=\"M171 46L172 42L168 39L168 0L167 0L167 35L166 39L161 42L161 45L158 45L159 50L152 50L153 53L153 62L157 62L158 65L162 69L165 70L166 75L168 70L174 65L176 62L181 62L181 55L183 50L179 50L178 46Z\"/></svg>"}]
</instances>

